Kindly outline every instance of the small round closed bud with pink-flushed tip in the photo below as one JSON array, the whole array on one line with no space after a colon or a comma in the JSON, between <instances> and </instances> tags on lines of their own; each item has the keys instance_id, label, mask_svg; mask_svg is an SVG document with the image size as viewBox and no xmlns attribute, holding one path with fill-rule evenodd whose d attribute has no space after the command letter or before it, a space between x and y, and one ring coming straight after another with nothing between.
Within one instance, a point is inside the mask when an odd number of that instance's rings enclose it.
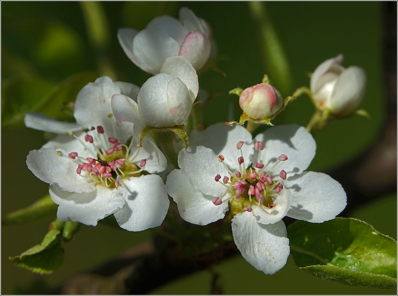
<instances>
[{"instance_id":1,"label":"small round closed bud with pink-flushed tip","mask_svg":"<svg viewBox=\"0 0 398 296\"><path fill-rule=\"evenodd\" d=\"M239 97L239 106L253 119L266 119L281 109L283 98L279 91L267 83L246 88Z\"/></svg>"}]
</instances>

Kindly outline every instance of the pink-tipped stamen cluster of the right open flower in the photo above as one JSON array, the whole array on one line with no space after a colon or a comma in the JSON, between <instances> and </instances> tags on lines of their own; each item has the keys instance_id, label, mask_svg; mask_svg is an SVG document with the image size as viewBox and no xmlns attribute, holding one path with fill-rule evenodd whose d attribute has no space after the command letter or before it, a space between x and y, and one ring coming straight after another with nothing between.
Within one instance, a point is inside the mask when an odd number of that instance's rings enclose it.
<instances>
[{"instance_id":1,"label":"pink-tipped stamen cluster of the right open flower","mask_svg":"<svg viewBox=\"0 0 398 296\"><path fill-rule=\"evenodd\" d=\"M230 193L233 193L233 196L225 199L224 201L222 201L219 197L215 197L213 199L213 204L218 206L227 201L234 201L236 203L242 204L243 211L248 212L252 211L253 205L273 208L275 206L273 200L276 199L276 196L283 189L283 185L280 184L280 182L281 180L286 179L286 171L280 171L280 179L278 181L274 181L272 179L270 172L280 162L287 160L287 156L285 154L281 154L273 167L267 169L267 167L260 161L261 150L264 149L263 143L256 142L254 144L254 149L258 151L258 160L256 163L254 163L254 168L250 167L250 169L246 169L242 152L243 144L243 141L239 141L238 144L236 144L236 148L240 150L241 154L241 156L238 158L239 171L232 173L232 171L230 171L230 169L228 169L224 163L224 156L218 156L219 162L222 162L230 174L230 178L227 176L221 178L221 175L217 175L214 179L216 182L219 182L223 186L227 187Z\"/></svg>"}]
</instances>

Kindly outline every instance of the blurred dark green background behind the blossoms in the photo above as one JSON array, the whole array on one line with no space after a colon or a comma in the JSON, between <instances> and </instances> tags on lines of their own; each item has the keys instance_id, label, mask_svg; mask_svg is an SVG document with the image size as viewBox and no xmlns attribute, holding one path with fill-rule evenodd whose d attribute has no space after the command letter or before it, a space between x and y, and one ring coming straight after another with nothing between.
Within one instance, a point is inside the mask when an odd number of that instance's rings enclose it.
<instances>
[{"instance_id":1,"label":"blurred dark green background behind the blossoms","mask_svg":"<svg viewBox=\"0 0 398 296\"><path fill-rule=\"evenodd\" d=\"M290 64L291 83L289 79L270 77L284 96L308 86L308 72L338 53L345 55L343 66L359 65L367 73L367 91L360 107L369 111L371 120L353 116L334 121L316 134L317 154L311 170L330 171L365 151L380 137L386 121L381 5L269 2L265 6L267 21L273 23ZM199 85L213 93L204 110L205 125L237 120L241 114L238 97L228 95L228 91L261 82L265 72L274 73L272 65L264 62L267 53L261 46L260 27L246 2L1 3L3 216L33 203L48 191L48 185L25 165L29 150L43 145L48 135L23 127L23 113L41 111L72 120L60 111L62 102L74 101L82 86L102 75L141 86L149 74L125 56L116 38L117 29L142 29L155 16L178 16L182 6L191 8L213 28L222 56L218 66L227 75L224 78L213 70L199 75ZM303 95L273 123L305 126L313 112L310 100ZM377 206L359 208L351 216L396 238L396 194L384 197ZM64 264L52 275L40 277L12 265L8 256L39 243L50 221L2 227L2 294L31 293L35 289L41 292L45 287L57 286L76 273L90 271L121 255L151 235L150 230L133 233L105 225L83 226L75 240L64 244ZM228 259L215 269L226 294L395 294L394 290L323 281L299 271L291 259L274 276L256 271L241 256ZM153 294L208 294L210 278L207 271L195 273ZM36 282L33 288L32 282Z\"/></svg>"}]
</instances>

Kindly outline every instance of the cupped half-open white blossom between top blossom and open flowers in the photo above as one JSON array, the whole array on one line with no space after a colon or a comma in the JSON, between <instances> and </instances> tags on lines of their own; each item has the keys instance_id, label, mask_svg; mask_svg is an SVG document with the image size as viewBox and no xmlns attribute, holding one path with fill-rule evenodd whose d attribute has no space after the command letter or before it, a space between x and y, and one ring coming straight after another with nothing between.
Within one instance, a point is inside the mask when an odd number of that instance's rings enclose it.
<instances>
[{"instance_id":1,"label":"cupped half-open white blossom between top blossom and open flowers","mask_svg":"<svg viewBox=\"0 0 398 296\"><path fill-rule=\"evenodd\" d=\"M117 122L135 126L173 127L183 125L191 113L199 91L195 69L182 56L164 62L161 73L142 85L137 103L126 95L112 97L112 110Z\"/></svg>"}]
</instances>

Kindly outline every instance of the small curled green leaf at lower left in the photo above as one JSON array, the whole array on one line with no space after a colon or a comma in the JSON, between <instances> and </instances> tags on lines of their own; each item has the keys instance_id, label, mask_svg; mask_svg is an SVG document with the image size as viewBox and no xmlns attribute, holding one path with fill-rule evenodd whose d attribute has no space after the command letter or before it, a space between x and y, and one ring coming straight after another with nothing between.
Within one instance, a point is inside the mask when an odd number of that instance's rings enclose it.
<instances>
[{"instance_id":1,"label":"small curled green leaf at lower left","mask_svg":"<svg viewBox=\"0 0 398 296\"><path fill-rule=\"evenodd\" d=\"M60 244L60 230L50 230L40 245L35 245L19 256L9 257L12 263L34 273L52 273L62 264L64 251Z\"/></svg>"}]
</instances>

